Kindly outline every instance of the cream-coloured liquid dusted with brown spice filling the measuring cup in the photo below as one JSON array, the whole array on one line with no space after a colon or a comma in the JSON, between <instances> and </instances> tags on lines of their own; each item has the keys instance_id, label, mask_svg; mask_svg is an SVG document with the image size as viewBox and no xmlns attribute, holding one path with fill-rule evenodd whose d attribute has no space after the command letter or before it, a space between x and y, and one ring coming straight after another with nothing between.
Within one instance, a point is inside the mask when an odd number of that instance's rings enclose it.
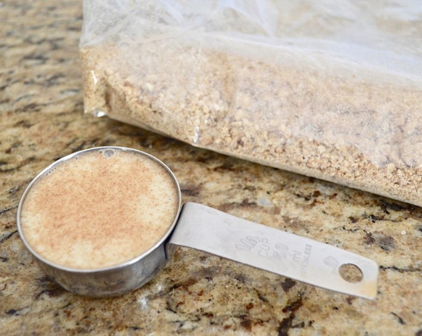
<instances>
[{"instance_id":1,"label":"cream-coloured liquid dusted with brown spice filling the measuring cup","mask_svg":"<svg viewBox=\"0 0 422 336\"><path fill-rule=\"evenodd\" d=\"M105 268L132 260L168 232L179 193L167 170L140 153L83 152L43 174L22 205L22 233L49 262Z\"/></svg>"}]
</instances>

